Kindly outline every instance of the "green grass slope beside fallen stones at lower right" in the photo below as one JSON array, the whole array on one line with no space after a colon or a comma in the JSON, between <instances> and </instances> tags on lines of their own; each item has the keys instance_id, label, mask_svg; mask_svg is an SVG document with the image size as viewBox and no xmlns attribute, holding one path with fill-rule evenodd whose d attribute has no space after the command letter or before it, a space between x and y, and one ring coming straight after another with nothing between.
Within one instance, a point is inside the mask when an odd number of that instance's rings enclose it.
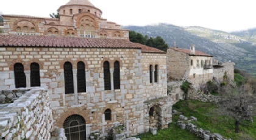
<instances>
[{"instance_id":1,"label":"green grass slope beside fallen stones at lower right","mask_svg":"<svg viewBox=\"0 0 256 140\"><path fill-rule=\"evenodd\" d=\"M214 110L216 105L214 103L181 100L180 102L177 102L173 108L182 112L182 114L187 117L196 117L197 121L193 122L193 124L197 125L197 128L210 130L211 132L219 133L220 135L233 140L256 139L256 122L246 122L243 125L240 125L240 133L235 133L234 119L215 114ZM254 117L254 119L256 119L256 117Z\"/></svg>"}]
</instances>

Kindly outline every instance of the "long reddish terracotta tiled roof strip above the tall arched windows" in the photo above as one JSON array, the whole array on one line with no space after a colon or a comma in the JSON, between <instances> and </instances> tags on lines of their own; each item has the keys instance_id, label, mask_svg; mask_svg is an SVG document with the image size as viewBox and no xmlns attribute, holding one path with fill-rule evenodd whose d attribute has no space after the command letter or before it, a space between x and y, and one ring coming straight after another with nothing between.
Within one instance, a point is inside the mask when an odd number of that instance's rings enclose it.
<instances>
[{"instance_id":1,"label":"long reddish terracotta tiled roof strip above the tall arched windows","mask_svg":"<svg viewBox=\"0 0 256 140\"><path fill-rule=\"evenodd\" d=\"M102 47L102 48L138 48L141 52L166 52L143 44L123 39L101 39L80 37L57 37L45 35L0 35L0 47Z\"/></svg>"}]
</instances>

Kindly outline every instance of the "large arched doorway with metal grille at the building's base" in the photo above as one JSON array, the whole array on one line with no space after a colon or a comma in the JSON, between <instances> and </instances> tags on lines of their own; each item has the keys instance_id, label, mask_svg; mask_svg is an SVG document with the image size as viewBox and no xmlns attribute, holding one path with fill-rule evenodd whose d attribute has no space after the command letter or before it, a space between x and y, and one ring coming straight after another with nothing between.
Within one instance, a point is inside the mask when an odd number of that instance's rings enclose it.
<instances>
[{"instance_id":1,"label":"large arched doorway with metal grille at the building's base","mask_svg":"<svg viewBox=\"0 0 256 140\"><path fill-rule=\"evenodd\" d=\"M84 117L73 114L68 116L64 123L65 136L68 140L84 140L86 139L86 127Z\"/></svg>"}]
</instances>

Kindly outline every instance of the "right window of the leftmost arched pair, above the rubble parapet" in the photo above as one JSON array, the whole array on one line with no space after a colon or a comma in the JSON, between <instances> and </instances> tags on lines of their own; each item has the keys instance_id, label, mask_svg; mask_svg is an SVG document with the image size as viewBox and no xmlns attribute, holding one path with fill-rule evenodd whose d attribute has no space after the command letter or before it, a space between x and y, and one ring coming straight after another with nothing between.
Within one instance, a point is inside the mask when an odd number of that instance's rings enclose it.
<instances>
[{"instance_id":1,"label":"right window of the leftmost arched pair, above the rubble parapet","mask_svg":"<svg viewBox=\"0 0 256 140\"><path fill-rule=\"evenodd\" d=\"M40 86L40 68L38 63L30 64L30 86Z\"/></svg>"}]
</instances>

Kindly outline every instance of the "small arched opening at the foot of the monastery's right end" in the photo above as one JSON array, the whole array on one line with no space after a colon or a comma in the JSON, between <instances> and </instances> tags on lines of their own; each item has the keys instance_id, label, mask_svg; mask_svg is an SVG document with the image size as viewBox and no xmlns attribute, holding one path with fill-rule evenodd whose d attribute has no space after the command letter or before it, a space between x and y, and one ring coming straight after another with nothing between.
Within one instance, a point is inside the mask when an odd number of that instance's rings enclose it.
<instances>
[{"instance_id":1,"label":"small arched opening at the foot of the monastery's right end","mask_svg":"<svg viewBox=\"0 0 256 140\"><path fill-rule=\"evenodd\" d=\"M160 108L153 106L149 109L149 128L160 128Z\"/></svg>"}]
</instances>

